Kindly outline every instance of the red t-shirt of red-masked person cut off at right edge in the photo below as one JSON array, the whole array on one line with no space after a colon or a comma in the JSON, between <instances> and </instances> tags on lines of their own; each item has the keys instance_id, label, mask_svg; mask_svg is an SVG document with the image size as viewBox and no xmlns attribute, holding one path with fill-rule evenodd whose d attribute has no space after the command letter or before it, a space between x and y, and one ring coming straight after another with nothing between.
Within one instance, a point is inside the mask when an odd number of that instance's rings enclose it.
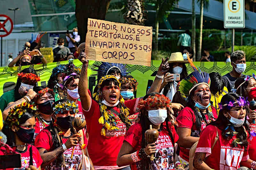
<instances>
[{"instance_id":1,"label":"red t-shirt of red-masked person cut off at right edge","mask_svg":"<svg viewBox=\"0 0 256 170\"><path fill-rule=\"evenodd\" d=\"M256 124L250 124L250 133L248 153L250 158L256 158Z\"/></svg>"}]
</instances>

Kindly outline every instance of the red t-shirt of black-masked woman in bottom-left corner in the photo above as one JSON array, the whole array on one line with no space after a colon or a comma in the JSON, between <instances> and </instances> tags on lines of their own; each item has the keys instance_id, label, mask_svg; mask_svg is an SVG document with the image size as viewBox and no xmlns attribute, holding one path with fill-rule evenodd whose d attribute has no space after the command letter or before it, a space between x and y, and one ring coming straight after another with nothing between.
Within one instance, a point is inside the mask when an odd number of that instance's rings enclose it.
<instances>
[{"instance_id":1,"label":"red t-shirt of black-masked woman in bottom-left corner","mask_svg":"<svg viewBox=\"0 0 256 170\"><path fill-rule=\"evenodd\" d=\"M21 155L21 168L23 168L23 167L28 168L28 166L29 166L29 160L30 160L29 149L30 149L30 147L32 147L33 166L38 168L43 163L43 160L42 160L38 150L36 149L36 147L33 146L33 145L28 145L26 150L23 151L23 153L20 153L20 155ZM15 150L15 147L12 147L12 149ZM0 151L0 155L4 155L4 153ZM7 168L6 170L15 170L15 169L19 169L19 168Z\"/></svg>"}]
</instances>

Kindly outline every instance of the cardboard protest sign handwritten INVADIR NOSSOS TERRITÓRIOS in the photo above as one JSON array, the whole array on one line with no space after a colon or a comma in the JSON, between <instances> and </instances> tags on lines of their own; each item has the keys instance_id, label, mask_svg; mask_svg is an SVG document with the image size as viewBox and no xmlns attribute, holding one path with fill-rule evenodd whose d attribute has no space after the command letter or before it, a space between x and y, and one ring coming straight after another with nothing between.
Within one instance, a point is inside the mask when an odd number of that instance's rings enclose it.
<instances>
[{"instance_id":1,"label":"cardboard protest sign handwritten INVADIR NOSSOS TERRIT\u00d3RIOS","mask_svg":"<svg viewBox=\"0 0 256 170\"><path fill-rule=\"evenodd\" d=\"M152 27L88 18L88 60L150 66Z\"/></svg>"}]
</instances>

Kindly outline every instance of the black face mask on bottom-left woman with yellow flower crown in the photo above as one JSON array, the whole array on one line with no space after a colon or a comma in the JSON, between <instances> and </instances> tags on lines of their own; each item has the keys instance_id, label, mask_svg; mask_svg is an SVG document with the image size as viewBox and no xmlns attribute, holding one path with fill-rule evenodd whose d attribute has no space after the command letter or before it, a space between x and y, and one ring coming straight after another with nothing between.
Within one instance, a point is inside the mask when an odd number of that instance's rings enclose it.
<instances>
[{"instance_id":1,"label":"black face mask on bottom-left woman with yellow flower crown","mask_svg":"<svg viewBox=\"0 0 256 170\"><path fill-rule=\"evenodd\" d=\"M26 144L30 144L33 142L34 139L34 134L35 134L35 129L23 129L20 128L17 132L16 132L17 136L19 137L19 139L21 140L21 142L24 142Z\"/></svg>"}]
</instances>

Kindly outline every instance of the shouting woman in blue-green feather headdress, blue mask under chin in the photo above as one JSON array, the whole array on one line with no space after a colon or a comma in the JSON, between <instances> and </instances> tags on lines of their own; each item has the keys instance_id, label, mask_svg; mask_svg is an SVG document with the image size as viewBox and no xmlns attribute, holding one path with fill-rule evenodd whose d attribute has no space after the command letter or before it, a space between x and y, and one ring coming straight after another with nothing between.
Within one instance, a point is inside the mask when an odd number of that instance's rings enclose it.
<instances>
[{"instance_id":1,"label":"shouting woman in blue-green feather headdress, blue mask under chin","mask_svg":"<svg viewBox=\"0 0 256 170\"><path fill-rule=\"evenodd\" d=\"M177 117L179 124L180 159L188 169L189 148L199 140L205 126L217 119L217 113L211 106L210 78L206 72L194 71L180 83L179 91L187 98L187 107Z\"/></svg>"}]
</instances>

